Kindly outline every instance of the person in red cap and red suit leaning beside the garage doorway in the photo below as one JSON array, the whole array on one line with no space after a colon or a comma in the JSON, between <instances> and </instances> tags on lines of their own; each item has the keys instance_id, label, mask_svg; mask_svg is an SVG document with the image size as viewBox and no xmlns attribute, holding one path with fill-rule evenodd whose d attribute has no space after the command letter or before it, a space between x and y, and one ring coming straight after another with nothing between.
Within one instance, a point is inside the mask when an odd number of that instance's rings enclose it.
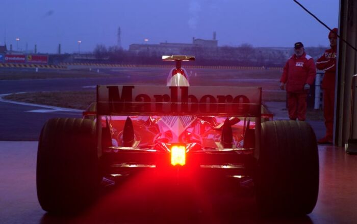
<instances>
[{"instance_id":1,"label":"person in red cap and red suit leaning beside the garage doorway","mask_svg":"<svg viewBox=\"0 0 357 224\"><path fill-rule=\"evenodd\" d=\"M317 141L319 144L333 143L337 28L329 32L328 39L331 48L325 50L324 54L316 62L317 69L325 70L321 88L323 90L323 116L325 117L326 135Z\"/></svg>"}]
</instances>

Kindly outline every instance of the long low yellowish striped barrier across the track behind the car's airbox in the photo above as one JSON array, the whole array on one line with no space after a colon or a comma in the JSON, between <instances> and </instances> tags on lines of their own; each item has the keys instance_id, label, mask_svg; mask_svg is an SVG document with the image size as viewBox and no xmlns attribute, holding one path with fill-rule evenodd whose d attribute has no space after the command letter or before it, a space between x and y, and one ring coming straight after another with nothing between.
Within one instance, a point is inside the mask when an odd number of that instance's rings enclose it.
<instances>
[{"instance_id":1,"label":"long low yellowish striped barrier across the track behind the car's airbox","mask_svg":"<svg viewBox=\"0 0 357 224\"><path fill-rule=\"evenodd\" d=\"M131 65L131 64L98 64L98 63L60 63L64 66L92 66L111 68L172 68L171 65ZM283 70L282 67L249 67L249 66L199 66L188 65L187 69L236 69L236 70Z\"/></svg>"}]
</instances>

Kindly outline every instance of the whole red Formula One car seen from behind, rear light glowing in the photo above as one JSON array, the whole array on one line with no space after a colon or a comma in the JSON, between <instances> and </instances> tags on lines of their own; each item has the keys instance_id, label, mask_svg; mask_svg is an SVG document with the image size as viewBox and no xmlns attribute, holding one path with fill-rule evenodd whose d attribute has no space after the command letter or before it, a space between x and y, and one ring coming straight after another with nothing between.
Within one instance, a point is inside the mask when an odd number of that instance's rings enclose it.
<instances>
[{"instance_id":1,"label":"whole red Formula One car seen from behind, rear light glowing","mask_svg":"<svg viewBox=\"0 0 357 224\"><path fill-rule=\"evenodd\" d=\"M103 178L154 172L222 183L249 178L261 213L310 213L319 185L311 126L269 121L259 87L190 86L181 63L194 57L163 60L176 63L166 86L97 86L84 118L46 122L37 158L42 208L80 209Z\"/></svg>"}]
</instances>

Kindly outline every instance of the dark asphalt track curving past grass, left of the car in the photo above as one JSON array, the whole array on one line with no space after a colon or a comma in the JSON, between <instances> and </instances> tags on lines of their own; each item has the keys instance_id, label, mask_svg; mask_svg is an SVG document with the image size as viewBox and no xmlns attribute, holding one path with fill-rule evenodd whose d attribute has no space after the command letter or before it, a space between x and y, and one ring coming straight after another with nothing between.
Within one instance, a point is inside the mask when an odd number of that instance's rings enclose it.
<instances>
[{"instance_id":1,"label":"dark asphalt track curving past grass, left of the car","mask_svg":"<svg viewBox=\"0 0 357 224\"><path fill-rule=\"evenodd\" d=\"M139 76L144 82L147 76ZM115 83L130 83L130 75L104 78L63 78L63 79L25 79L1 80L0 95L19 92L41 91L81 91L93 90L96 85L109 85ZM39 111L46 107L14 104L0 100L0 141L34 141L38 139L43 124L50 118L81 117L77 111ZM37 111L34 111L37 110Z\"/></svg>"}]
</instances>

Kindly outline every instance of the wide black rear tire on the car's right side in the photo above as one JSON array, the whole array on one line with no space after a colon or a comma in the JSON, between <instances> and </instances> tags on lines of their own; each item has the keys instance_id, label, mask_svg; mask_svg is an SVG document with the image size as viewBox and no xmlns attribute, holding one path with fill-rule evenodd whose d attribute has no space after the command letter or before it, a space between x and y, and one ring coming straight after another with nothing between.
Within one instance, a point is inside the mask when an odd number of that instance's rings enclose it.
<instances>
[{"instance_id":1,"label":"wide black rear tire on the car's right side","mask_svg":"<svg viewBox=\"0 0 357 224\"><path fill-rule=\"evenodd\" d=\"M262 123L254 184L262 216L302 216L312 212L319 190L316 136L302 121Z\"/></svg>"}]
</instances>

